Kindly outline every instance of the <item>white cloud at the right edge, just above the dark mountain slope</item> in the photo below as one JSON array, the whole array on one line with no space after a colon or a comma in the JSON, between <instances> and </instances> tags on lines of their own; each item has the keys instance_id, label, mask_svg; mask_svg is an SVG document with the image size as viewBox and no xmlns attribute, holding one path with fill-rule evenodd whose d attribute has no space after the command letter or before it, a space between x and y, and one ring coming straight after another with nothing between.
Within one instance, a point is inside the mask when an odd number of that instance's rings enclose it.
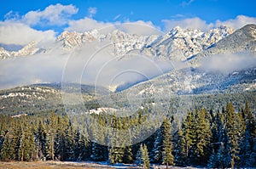
<instances>
[{"instance_id":1,"label":"white cloud at the right edge, just above the dark mountain slope","mask_svg":"<svg viewBox=\"0 0 256 169\"><path fill-rule=\"evenodd\" d=\"M234 19L234 20L232 20L232 19L225 20L225 21L217 20L215 25L216 26L228 25L230 27L233 27L234 29L239 29L242 26L247 25L247 24L256 24L256 17L248 17L245 15L238 15L238 16L236 16L236 19Z\"/></svg>"}]
</instances>

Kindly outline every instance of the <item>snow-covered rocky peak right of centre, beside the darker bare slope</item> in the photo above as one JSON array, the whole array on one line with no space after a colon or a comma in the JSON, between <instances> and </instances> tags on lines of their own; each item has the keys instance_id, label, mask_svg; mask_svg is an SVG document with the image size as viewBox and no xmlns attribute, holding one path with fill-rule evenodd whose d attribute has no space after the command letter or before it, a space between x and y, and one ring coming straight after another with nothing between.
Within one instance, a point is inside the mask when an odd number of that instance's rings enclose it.
<instances>
[{"instance_id":1,"label":"snow-covered rocky peak right of centre, beside the darker bare slope","mask_svg":"<svg viewBox=\"0 0 256 169\"><path fill-rule=\"evenodd\" d=\"M211 31L183 30L175 27L158 41L151 44L145 53L154 53L161 58L185 60L192 55L199 54L212 44L230 35L234 30L227 26L220 26Z\"/></svg>"}]
</instances>

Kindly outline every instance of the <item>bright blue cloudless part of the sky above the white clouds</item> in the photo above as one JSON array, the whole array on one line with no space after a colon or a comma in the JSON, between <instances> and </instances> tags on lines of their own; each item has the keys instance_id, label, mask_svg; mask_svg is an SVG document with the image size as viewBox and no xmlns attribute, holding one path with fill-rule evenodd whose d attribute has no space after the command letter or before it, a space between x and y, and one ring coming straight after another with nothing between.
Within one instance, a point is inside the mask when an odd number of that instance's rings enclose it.
<instances>
[{"instance_id":1,"label":"bright blue cloudless part of the sky above the white clouds","mask_svg":"<svg viewBox=\"0 0 256 169\"><path fill-rule=\"evenodd\" d=\"M88 17L104 23L126 22L126 21L150 21L153 25L165 30L166 23L163 20L184 20L198 17L207 24L215 23L216 20L235 20L238 15L256 17L255 0L228 1L228 0L159 0L159 1L137 1L137 0L1 0L0 20L12 20L22 18L30 11L44 11L49 5L72 4L77 9L69 14L67 20L81 20ZM94 9L95 11L90 11ZM92 13L92 14L91 14ZM64 25L47 24L30 25L37 30L54 30L61 32L68 27ZM166 28L167 29L167 28ZM171 29L171 28L170 28Z\"/></svg>"}]
</instances>

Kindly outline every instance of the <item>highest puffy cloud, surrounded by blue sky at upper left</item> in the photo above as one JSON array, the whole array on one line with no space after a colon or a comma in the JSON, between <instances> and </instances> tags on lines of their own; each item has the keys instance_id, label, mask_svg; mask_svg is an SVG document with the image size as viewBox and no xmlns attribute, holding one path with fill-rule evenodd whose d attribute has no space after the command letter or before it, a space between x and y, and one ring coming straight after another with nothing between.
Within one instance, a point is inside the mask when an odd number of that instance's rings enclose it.
<instances>
[{"instance_id":1,"label":"highest puffy cloud, surrounded by blue sky at upper left","mask_svg":"<svg viewBox=\"0 0 256 169\"><path fill-rule=\"evenodd\" d=\"M14 15L10 11L5 15L5 18L26 25L66 25L68 19L73 14L77 14L78 11L79 9L72 4L62 5L57 3L55 5L49 5L43 11L30 11L21 17L17 17L17 14Z\"/></svg>"}]
</instances>

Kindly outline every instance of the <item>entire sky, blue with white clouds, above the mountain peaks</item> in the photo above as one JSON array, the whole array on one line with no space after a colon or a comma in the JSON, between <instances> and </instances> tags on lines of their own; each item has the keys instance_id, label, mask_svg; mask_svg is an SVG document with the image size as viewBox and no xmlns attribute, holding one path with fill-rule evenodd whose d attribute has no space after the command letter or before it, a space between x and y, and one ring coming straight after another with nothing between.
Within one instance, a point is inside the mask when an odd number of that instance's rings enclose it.
<instances>
[{"instance_id":1,"label":"entire sky, blue with white clouds, above the mountain peaks","mask_svg":"<svg viewBox=\"0 0 256 169\"><path fill-rule=\"evenodd\" d=\"M177 25L201 31L220 25L239 29L256 24L255 7L255 0L0 0L0 44L47 44L62 31L92 31L123 23L164 32ZM131 32L137 31L144 30Z\"/></svg>"}]
</instances>

